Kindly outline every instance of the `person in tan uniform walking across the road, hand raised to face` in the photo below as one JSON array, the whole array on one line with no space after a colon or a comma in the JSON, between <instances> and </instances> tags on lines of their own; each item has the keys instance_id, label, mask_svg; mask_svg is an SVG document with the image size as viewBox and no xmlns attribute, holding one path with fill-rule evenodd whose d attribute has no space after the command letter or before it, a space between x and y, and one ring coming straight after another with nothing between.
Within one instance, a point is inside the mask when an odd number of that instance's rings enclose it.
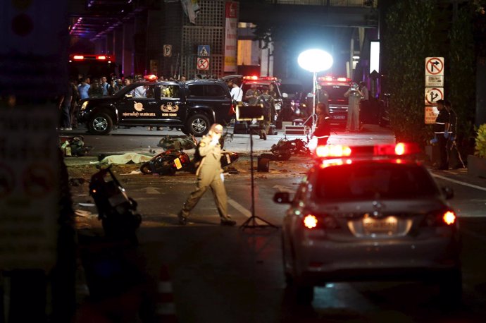
<instances>
[{"instance_id":1,"label":"person in tan uniform walking across the road, hand raised to face","mask_svg":"<svg viewBox=\"0 0 486 323\"><path fill-rule=\"evenodd\" d=\"M179 224L187 224L187 217L197 205L202 195L208 188L213 191L214 202L218 207L218 213L222 225L234 226L236 221L228 216L228 202L226 198L225 185L223 184L223 169L221 169L221 146L220 138L223 134L223 126L218 123L213 124L198 145L199 154L202 157L196 171L196 189L189 194L184 206L178 214Z\"/></svg>"}]
</instances>

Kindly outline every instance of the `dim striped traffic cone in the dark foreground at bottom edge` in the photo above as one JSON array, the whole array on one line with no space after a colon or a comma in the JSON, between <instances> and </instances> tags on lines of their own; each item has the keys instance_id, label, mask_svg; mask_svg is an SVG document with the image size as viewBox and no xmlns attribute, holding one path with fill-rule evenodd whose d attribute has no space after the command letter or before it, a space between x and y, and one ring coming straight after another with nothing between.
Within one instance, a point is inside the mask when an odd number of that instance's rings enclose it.
<instances>
[{"instance_id":1,"label":"dim striped traffic cone in the dark foreground at bottom edge","mask_svg":"<svg viewBox=\"0 0 486 323\"><path fill-rule=\"evenodd\" d=\"M170 281L169 271L166 265L161 266L161 272L158 276L156 317L156 322L177 323L172 281Z\"/></svg>"}]
</instances>

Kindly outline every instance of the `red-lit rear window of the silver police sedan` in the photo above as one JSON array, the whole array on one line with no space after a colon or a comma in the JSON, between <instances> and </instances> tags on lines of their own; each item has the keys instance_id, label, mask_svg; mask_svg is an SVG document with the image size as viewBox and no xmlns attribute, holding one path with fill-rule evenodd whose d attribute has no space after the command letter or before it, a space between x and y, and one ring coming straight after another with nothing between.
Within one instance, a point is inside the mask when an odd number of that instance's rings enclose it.
<instances>
[{"instance_id":1,"label":"red-lit rear window of the silver police sedan","mask_svg":"<svg viewBox=\"0 0 486 323\"><path fill-rule=\"evenodd\" d=\"M438 195L428 172L410 164L349 164L320 169L318 200L408 199Z\"/></svg>"}]
</instances>

